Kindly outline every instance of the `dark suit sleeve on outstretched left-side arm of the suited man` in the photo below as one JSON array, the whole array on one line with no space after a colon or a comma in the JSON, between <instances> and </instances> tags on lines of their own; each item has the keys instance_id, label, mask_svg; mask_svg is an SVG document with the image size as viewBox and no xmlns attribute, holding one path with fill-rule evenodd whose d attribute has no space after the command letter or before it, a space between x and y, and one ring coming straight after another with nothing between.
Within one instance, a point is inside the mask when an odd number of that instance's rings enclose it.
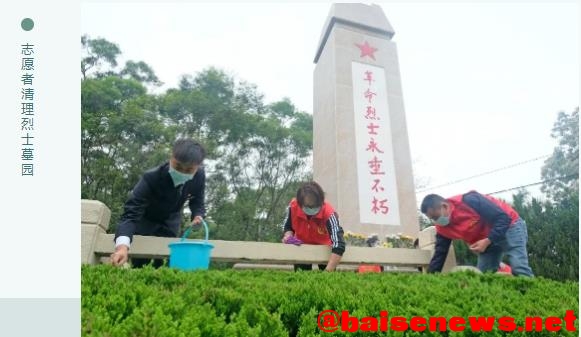
<instances>
[{"instance_id":1,"label":"dark suit sleeve on outstretched left-side arm of the suited man","mask_svg":"<svg viewBox=\"0 0 581 337\"><path fill-rule=\"evenodd\" d=\"M137 222L141 220L145 209L151 202L151 188L147 181L142 177L137 185L133 188L133 192L129 200L125 202L123 214L121 215L121 222L117 225L115 231L115 240L119 236L128 236L133 241L133 234Z\"/></svg>"}]
</instances>

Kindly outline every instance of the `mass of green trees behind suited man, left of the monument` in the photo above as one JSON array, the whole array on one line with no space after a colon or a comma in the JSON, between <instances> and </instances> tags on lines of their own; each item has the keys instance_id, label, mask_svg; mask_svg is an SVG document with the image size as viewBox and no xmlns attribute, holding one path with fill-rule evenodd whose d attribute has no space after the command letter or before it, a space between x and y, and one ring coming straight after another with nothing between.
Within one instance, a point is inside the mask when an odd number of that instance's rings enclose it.
<instances>
[{"instance_id":1,"label":"mass of green trees behind suited man, left of the monument","mask_svg":"<svg viewBox=\"0 0 581 337\"><path fill-rule=\"evenodd\" d=\"M208 150L212 238L280 236L286 203L311 174L309 114L288 99L266 105L255 85L212 67L152 95L148 88L161 82L146 63L127 61L119 71L117 45L87 36L81 45L83 198L107 204L115 225L143 172L168 159L176 138L191 137Z\"/></svg>"}]
</instances>

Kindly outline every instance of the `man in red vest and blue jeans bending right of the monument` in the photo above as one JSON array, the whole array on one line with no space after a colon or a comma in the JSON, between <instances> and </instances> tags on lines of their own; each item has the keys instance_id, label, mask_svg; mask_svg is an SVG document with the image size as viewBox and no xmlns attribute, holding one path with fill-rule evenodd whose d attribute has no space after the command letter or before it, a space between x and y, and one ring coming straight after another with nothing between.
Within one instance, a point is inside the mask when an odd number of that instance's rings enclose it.
<instances>
[{"instance_id":1,"label":"man in red vest and blue jeans bending right of the monument","mask_svg":"<svg viewBox=\"0 0 581 337\"><path fill-rule=\"evenodd\" d=\"M440 272L452 240L464 240L478 254L478 269L498 270L504 254L513 275L533 276L527 254L527 227L508 204L470 191L444 199L427 195L421 211L436 226L436 249L428 272Z\"/></svg>"}]
</instances>

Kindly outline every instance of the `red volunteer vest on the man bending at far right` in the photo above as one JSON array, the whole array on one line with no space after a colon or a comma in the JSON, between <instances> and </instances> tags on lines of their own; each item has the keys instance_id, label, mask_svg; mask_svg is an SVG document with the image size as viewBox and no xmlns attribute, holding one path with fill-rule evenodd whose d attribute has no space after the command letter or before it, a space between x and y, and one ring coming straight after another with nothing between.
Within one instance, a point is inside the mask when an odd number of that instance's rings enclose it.
<instances>
[{"instance_id":1,"label":"red volunteer vest on the man bending at far right","mask_svg":"<svg viewBox=\"0 0 581 337\"><path fill-rule=\"evenodd\" d=\"M500 207L510 217L510 226L518 219L518 213L508 204L485 195L488 200ZM468 244L473 244L478 240L488 237L492 224L480 218L470 206L462 202L462 195L457 195L446 199L450 204L450 223L448 226L436 225L436 232L452 240L464 240Z\"/></svg>"}]
</instances>

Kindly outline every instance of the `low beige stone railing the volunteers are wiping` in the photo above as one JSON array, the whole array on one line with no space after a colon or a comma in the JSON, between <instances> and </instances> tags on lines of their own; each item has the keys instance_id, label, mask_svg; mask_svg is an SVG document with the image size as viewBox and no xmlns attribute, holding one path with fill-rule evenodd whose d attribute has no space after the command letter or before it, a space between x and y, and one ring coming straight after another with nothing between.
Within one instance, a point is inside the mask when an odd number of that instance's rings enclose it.
<instances>
[{"instance_id":1,"label":"low beige stone railing the volunteers are wiping","mask_svg":"<svg viewBox=\"0 0 581 337\"><path fill-rule=\"evenodd\" d=\"M107 260L113 252L113 234L107 234L111 211L100 201L81 200L81 254L83 264L97 264ZM168 244L176 238L134 236L130 257L167 258ZM286 245L270 242L210 240L214 245L213 261L251 262L260 264L291 265L294 263L323 264L329 260L326 246ZM425 268L432 257L435 231L427 228L419 236L420 249L349 247L341 266L379 264L396 267ZM448 255L444 271L455 266L453 250ZM265 266L266 267L266 266Z\"/></svg>"}]
</instances>

